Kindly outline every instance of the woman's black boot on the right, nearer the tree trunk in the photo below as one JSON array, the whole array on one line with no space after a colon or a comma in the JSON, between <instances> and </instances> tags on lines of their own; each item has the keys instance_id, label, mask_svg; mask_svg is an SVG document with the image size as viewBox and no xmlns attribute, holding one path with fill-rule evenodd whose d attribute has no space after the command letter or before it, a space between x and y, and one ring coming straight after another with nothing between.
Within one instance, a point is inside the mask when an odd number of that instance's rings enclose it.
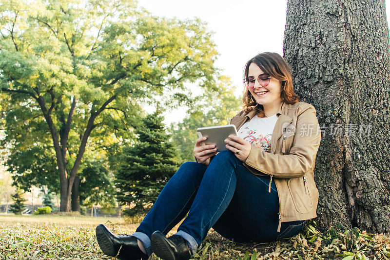
<instances>
[{"instance_id":1,"label":"woman's black boot on the right, nearer the tree trunk","mask_svg":"<svg viewBox=\"0 0 390 260\"><path fill-rule=\"evenodd\" d=\"M155 231L150 240L153 252L163 260L191 259L192 254L187 241L179 235L166 238L160 231Z\"/></svg>"}]
</instances>

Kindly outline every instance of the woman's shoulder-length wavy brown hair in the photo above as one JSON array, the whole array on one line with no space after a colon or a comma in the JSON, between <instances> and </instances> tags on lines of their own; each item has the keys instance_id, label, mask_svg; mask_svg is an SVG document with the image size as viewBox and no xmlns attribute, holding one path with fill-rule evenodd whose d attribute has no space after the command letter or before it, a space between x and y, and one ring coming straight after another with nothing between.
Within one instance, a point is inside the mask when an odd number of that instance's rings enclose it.
<instances>
[{"instance_id":1,"label":"woman's shoulder-length wavy brown hair","mask_svg":"<svg viewBox=\"0 0 390 260\"><path fill-rule=\"evenodd\" d=\"M266 74L269 74L276 80L282 82L282 91L280 92L280 98L282 101L294 104L299 101L298 95L295 94L292 87L291 70L286 60L284 60L279 54L274 52L263 52L254 56L251 60L245 64L244 79L248 80L249 65L255 63ZM257 116L265 117L263 105L257 104L256 100L245 87L244 96L242 97L244 103L244 111L249 112L253 109L257 110Z\"/></svg>"}]
</instances>

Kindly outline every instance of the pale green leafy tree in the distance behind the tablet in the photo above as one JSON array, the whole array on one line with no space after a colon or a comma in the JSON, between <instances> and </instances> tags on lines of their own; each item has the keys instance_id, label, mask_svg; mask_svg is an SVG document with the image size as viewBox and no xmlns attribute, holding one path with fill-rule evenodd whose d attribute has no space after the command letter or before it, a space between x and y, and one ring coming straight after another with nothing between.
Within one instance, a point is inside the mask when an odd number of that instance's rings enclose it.
<instances>
[{"instance_id":1,"label":"pale green leafy tree in the distance behind the tablet","mask_svg":"<svg viewBox=\"0 0 390 260\"><path fill-rule=\"evenodd\" d=\"M198 98L194 105L197 109L190 111L182 122L171 125L172 139L183 161L195 160L196 128L229 124L230 119L241 110L241 99L234 94L236 87L230 78L220 76L217 86L217 91L206 91Z\"/></svg>"}]
</instances>

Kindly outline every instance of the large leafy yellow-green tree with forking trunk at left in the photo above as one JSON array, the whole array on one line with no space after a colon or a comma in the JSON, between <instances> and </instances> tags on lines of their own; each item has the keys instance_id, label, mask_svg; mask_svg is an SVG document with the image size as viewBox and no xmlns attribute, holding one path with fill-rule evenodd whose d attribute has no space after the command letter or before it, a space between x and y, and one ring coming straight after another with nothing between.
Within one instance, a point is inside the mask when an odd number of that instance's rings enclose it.
<instances>
[{"instance_id":1,"label":"large leafy yellow-green tree with forking trunk at left","mask_svg":"<svg viewBox=\"0 0 390 260\"><path fill-rule=\"evenodd\" d=\"M215 88L210 36L199 20L158 18L132 0L2 0L1 146L19 153L10 171L37 174L18 158L39 149L41 176L59 179L60 211L70 211L71 197L77 210L91 143L131 140L141 101L191 104L186 83Z\"/></svg>"}]
</instances>

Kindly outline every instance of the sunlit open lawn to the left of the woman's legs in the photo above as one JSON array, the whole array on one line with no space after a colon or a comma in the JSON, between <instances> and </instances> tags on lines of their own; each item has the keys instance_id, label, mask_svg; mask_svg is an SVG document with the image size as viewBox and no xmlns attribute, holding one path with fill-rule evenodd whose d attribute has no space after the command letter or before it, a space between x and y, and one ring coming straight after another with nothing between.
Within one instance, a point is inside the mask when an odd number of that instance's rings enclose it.
<instances>
[{"instance_id":1,"label":"sunlit open lawn to the left of the woman's legs","mask_svg":"<svg viewBox=\"0 0 390 260\"><path fill-rule=\"evenodd\" d=\"M103 255L96 241L95 228L101 223L116 234L131 234L138 226L118 218L0 215L0 260L112 259Z\"/></svg>"}]
</instances>

